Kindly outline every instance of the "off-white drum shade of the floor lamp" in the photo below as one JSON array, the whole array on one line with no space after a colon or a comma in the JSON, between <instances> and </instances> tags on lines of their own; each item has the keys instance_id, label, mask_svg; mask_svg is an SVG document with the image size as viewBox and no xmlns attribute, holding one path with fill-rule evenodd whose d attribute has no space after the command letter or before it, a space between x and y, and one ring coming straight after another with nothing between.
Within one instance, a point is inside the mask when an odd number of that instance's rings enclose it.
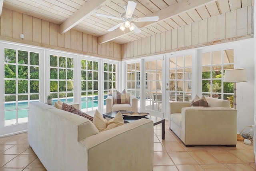
<instances>
[{"instance_id":1,"label":"off-white drum shade of the floor lamp","mask_svg":"<svg viewBox=\"0 0 256 171\"><path fill-rule=\"evenodd\" d=\"M225 70L223 82L247 82L246 70L244 68Z\"/></svg>"}]
</instances>

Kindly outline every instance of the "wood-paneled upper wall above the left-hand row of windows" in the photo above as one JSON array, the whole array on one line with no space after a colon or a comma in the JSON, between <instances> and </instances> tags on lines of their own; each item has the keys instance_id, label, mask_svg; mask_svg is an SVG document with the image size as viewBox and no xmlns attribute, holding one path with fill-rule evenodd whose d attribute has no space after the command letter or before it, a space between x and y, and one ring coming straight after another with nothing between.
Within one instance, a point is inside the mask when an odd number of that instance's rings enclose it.
<instances>
[{"instance_id":1,"label":"wood-paneled upper wall above the left-hand row of windows","mask_svg":"<svg viewBox=\"0 0 256 171\"><path fill-rule=\"evenodd\" d=\"M98 44L96 36L74 29L60 34L60 25L3 8L0 40L17 42L77 54L122 60L122 45L115 42ZM24 34L24 39L20 38Z\"/></svg>"}]
</instances>

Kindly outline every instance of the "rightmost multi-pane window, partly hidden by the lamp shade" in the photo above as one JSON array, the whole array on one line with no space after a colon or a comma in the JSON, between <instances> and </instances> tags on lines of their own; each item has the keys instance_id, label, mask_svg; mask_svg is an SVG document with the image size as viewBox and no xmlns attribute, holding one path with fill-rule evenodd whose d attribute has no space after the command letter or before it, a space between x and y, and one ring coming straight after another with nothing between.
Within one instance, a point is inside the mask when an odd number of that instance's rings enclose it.
<instances>
[{"instance_id":1,"label":"rightmost multi-pane window, partly hidden by the lamp shade","mask_svg":"<svg viewBox=\"0 0 256 171\"><path fill-rule=\"evenodd\" d=\"M234 68L234 50L202 54L202 93L209 97L232 99L233 83L224 83L224 70ZM222 86L223 85L223 86Z\"/></svg>"}]
</instances>

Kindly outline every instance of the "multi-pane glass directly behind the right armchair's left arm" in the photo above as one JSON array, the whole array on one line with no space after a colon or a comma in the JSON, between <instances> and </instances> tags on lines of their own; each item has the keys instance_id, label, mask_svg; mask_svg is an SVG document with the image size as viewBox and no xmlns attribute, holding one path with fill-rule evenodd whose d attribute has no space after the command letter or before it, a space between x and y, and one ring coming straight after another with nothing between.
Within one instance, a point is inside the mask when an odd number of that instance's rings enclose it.
<instances>
[{"instance_id":1,"label":"multi-pane glass directly behind the right armchair's left arm","mask_svg":"<svg viewBox=\"0 0 256 171\"><path fill-rule=\"evenodd\" d=\"M192 91L192 56L169 59L170 101L190 101Z\"/></svg>"}]
</instances>

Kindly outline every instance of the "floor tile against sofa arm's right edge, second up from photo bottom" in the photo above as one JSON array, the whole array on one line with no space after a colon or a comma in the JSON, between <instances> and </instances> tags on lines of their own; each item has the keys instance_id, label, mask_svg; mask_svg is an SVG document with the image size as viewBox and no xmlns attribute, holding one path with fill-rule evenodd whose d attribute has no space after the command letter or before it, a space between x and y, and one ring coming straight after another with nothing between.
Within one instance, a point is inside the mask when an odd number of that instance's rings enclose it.
<instances>
[{"instance_id":1,"label":"floor tile against sofa arm's right edge, second up from photo bottom","mask_svg":"<svg viewBox=\"0 0 256 171\"><path fill-rule=\"evenodd\" d=\"M166 152L154 152L154 165L174 165Z\"/></svg>"}]
</instances>

